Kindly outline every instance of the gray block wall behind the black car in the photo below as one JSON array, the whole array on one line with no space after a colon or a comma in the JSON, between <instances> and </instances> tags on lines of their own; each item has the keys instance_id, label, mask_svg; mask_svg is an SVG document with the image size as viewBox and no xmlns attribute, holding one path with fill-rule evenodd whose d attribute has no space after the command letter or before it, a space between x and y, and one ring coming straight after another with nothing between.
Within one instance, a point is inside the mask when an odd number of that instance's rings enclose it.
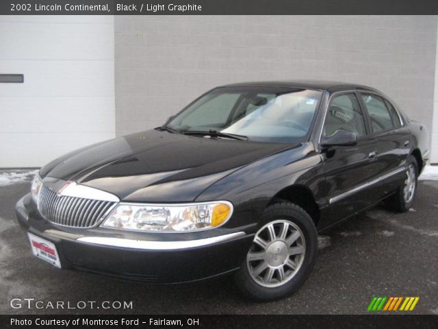
<instances>
[{"instance_id":1,"label":"gray block wall behind the black car","mask_svg":"<svg viewBox=\"0 0 438 329\"><path fill-rule=\"evenodd\" d=\"M436 16L116 16L116 134L232 82L374 86L432 131Z\"/></svg>"}]
</instances>

